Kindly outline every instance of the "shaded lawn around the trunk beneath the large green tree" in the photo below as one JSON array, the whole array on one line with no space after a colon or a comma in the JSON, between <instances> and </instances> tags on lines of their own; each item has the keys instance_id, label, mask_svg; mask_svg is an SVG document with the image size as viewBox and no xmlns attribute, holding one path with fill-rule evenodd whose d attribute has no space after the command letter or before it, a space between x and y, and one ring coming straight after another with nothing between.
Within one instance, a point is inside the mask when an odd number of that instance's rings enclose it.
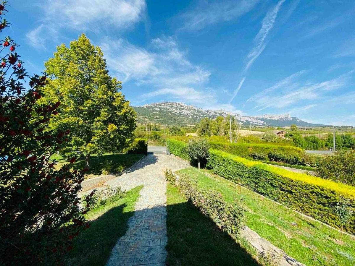
<instances>
[{"instance_id":1,"label":"shaded lawn around the trunk beneath the large green tree","mask_svg":"<svg viewBox=\"0 0 355 266\"><path fill-rule=\"evenodd\" d=\"M122 166L123 169L130 167L132 164L137 162L142 158L142 154L112 154L107 153L101 156L97 154L91 155L90 159L90 169L87 172L86 178L93 178L102 174L105 164L108 162L113 163L113 168ZM63 164L69 164L69 161L65 160L60 155L52 155L50 159L56 159L59 163L55 166L56 169L59 169ZM85 168L85 159L78 159L74 164L73 168L82 169Z\"/></svg>"}]
</instances>

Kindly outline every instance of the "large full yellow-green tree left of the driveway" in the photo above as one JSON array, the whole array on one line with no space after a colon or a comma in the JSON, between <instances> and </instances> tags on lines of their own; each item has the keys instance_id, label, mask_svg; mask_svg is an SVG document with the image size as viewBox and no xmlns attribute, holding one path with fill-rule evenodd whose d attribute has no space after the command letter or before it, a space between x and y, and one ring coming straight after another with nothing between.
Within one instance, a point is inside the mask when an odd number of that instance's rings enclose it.
<instances>
[{"instance_id":1,"label":"large full yellow-green tree left of the driveway","mask_svg":"<svg viewBox=\"0 0 355 266\"><path fill-rule=\"evenodd\" d=\"M50 127L71 132L61 153L81 151L89 166L91 153L119 152L132 142L136 113L120 92L121 82L109 76L98 46L82 34L69 47L58 46L45 67L50 78L43 100L61 102Z\"/></svg>"}]
</instances>

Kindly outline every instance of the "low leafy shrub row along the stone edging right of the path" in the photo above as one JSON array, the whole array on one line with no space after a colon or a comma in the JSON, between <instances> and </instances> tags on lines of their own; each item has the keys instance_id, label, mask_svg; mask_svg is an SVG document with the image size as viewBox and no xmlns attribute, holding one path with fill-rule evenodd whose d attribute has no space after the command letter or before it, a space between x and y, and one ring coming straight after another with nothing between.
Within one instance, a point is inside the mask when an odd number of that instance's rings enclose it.
<instances>
[{"instance_id":1,"label":"low leafy shrub row along the stone edging right of the path","mask_svg":"<svg viewBox=\"0 0 355 266\"><path fill-rule=\"evenodd\" d=\"M215 190L199 188L196 181L182 175L179 180L170 170L165 171L166 180L176 185L193 205L198 207L204 215L209 216L222 231L237 239L240 229L244 226L245 209L240 201L235 200L234 206L225 202L222 194Z\"/></svg>"}]
</instances>

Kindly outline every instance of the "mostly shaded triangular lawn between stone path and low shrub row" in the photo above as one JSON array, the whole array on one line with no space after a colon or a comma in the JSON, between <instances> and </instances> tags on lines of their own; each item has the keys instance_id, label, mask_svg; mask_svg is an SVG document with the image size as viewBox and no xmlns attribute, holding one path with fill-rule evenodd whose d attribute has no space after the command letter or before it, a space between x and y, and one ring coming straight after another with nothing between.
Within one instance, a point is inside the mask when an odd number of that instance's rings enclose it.
<instances>
[{"instance_id":1,"label":"mostly shaded triangular lawn between stone path and low shrub row","mask_svg":"<svg viewBox=\"0 0 355 266\"><path fill-rule=\"evenodd\" d=\"M243 248L220 231L176 187L168 184L166 195L167 265L258 265L250 246L243 242Z\"/></svg>"}]
</instances>

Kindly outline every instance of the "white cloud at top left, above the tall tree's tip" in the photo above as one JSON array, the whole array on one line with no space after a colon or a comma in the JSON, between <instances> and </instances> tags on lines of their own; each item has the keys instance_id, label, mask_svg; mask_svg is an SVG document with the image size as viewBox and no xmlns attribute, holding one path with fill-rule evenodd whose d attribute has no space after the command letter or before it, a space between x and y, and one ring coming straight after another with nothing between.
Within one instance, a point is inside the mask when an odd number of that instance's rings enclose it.
<instances>
[{"instance_id":1,"label":"white cloud at top left, above the tall tree's tip","mask_svg":"<svg viewBox=\"0 0 355 266\"><path fill-rule=\"evenodd\" d=\"M64 29L98 32L100 28L131 28L145 20L144 0L42 0L43 19L26 36L35 48L48 40L58 40Z\"/></svg>"}]
</instances>

